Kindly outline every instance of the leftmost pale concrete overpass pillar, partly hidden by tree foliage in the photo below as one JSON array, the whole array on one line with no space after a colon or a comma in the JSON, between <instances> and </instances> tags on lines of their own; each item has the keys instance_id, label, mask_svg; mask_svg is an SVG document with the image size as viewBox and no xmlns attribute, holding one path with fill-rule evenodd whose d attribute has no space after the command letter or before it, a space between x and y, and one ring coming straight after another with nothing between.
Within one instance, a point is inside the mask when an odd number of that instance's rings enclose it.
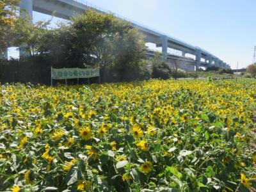
<instances>
[{"instance_id":1,"label":"leftmost pale concrete overpass pillar, partly hidden by tree foliage","mask_svg":"<svg viewBox=\"0 0 256 192\"><path fill-rule=\"evenodd\" d=\"M20 12L20 17L22 15L29 14L29 17L31 18L31 22L33 22L33 0L22 0L20 2L20 10L26 11L26 12ZM20 45L20 56L29 56L29 52L22 50L22 45Z\"/></svg>"}]
</instances>

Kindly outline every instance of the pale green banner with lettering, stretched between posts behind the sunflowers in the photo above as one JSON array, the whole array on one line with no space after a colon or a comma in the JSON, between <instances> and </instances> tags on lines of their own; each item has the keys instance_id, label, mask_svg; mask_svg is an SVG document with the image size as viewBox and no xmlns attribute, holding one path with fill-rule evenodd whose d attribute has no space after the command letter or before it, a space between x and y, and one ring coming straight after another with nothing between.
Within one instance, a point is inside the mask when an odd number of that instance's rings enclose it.
<instances>
[{"instance_id":1,"label":"pale green banner with lettering, stretched between posts behind the sunflowers","mask_svg":"<svg viewBox=\"0 0 256 192\"><path fill-rule=\"evenodd\" d=\"M52 68L52 79L79 79L99 77L100 68Z\"/></svg>"}]
</instances>

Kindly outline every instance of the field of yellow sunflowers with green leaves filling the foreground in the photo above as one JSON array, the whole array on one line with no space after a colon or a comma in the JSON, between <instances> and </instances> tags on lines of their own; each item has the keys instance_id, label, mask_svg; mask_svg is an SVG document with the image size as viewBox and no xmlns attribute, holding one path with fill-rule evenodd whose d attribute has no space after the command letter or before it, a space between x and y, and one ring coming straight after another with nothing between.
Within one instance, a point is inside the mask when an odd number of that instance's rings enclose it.
<instances>
[{"instance_id":1,"label":"field of yellow sunflowers with green leaves filling the foreground","mask_svg":"<svg viewBox=\"0 0 256 192\"><path fill-rule=\"evenodd\" d=\"M0 191L256 186L256 81L0 87Z\"/></svg>"}]
</instances>

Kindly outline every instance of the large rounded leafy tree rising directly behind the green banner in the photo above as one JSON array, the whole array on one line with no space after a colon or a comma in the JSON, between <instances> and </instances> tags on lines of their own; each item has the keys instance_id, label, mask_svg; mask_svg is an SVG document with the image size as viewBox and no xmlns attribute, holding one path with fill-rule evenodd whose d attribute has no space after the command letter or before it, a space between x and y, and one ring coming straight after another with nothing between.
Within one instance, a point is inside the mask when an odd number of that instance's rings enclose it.
<instances>
[{"instance_id":1,"label":"large rounded leafy tree rising directly behind the green banner","mask_svg":"<svg viewBox=\"0 0 256 192\"><path fill-rule=\"evenodd\" d=\"M98 66L104 74L115 73L112 76L118 81L129 81L125 79L128 74L141 74L145 67L143 36L132 29L131 23L111 14L87 11L68 23L60 23L42 38L45 40L40 52L50 56L58 67Z\"/></svg>"}]
</instances>

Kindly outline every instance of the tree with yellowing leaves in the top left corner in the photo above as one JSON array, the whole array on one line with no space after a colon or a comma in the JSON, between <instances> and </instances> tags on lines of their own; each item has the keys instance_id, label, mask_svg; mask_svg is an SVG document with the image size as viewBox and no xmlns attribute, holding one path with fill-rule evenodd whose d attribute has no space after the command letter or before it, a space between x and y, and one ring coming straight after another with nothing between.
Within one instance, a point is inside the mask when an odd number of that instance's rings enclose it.
<instances>
[{"instance_id":1,"label":"tree with yellowing leaves in the top left corner","mask_svg":"<svg viewBox=\"0 0 256 192\"><path fill-rule=\"evenodd\" d=\"M10 47L13 38L13 28L17 21L17 10L20 0L0 1L0 53Z\"/></svg>"}]
</instances>

